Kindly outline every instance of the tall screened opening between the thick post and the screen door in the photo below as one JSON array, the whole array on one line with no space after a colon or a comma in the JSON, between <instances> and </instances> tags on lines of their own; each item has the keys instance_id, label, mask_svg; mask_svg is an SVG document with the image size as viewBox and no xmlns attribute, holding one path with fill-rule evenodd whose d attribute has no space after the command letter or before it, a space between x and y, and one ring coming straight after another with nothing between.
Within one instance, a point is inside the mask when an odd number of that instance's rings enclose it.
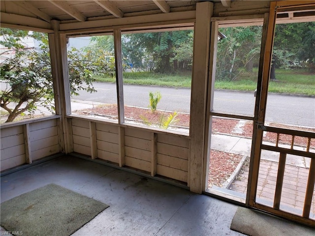
<instances>
[{"instance_id":1,"label":"tall screened opening between the thick post and the screen door","mask_svg":"<svg viewBox=\"0 0 315 236\"><path fill-rule=\"evenodd\" d=\"M206 191L245 203L262 26L219 30Z\"/></svg>"}]
</instances>

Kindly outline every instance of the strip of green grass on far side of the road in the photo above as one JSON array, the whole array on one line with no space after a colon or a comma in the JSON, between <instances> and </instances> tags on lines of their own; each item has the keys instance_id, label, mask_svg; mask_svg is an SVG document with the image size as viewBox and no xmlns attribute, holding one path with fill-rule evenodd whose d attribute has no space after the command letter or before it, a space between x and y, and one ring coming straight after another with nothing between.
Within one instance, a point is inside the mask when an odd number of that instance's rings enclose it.
<instances>
[{"instance_id":1,"label":"strip of green grass on far side of the road","mask_svg":"<svg viewBox=\"0 0 315 236\"><path fill-rule=\"evenodd\" d=\"M254 91L257 87L257 68L252 73L238 75L236 81L216 81L215 89ZM191 72L159 74L154 72L124 72L124 83L160 87L190 88ZM315 74L305 70L276 70L277 81L271 81L269 92L305 94L315 96ZM98 82L115 83L115 77L96 77Z\"/></svg>"}]
</instances>

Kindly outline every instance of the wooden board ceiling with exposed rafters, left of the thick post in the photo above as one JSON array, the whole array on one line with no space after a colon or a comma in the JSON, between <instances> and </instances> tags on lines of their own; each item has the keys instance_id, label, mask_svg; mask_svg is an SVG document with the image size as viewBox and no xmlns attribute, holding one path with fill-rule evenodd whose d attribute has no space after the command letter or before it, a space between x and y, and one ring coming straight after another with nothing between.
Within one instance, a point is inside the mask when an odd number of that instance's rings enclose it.
<instances>
[{"instance_id":1,"label":"wooden board ceiling with exposed rafters, left of the thick post","mask_svg":"<svg viewBox=\"0 0 315 236\"><path fill-rule=\"evenodd\" d=\"M15 14L50 23L84 22L194 10L195 0L1 0L1 15ZM222 0L224 4L227 0Z\"/></svg>"}]
</instances>

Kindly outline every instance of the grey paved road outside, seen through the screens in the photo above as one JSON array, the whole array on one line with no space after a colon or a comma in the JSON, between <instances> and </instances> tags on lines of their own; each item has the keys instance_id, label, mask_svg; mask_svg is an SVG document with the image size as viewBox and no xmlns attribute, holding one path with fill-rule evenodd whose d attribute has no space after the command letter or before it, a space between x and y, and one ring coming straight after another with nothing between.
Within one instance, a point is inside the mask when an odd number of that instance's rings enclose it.
<instances>
[{"instance_id":1,"label":"grey paved road outside, seen through the screens","mask_svg":"<svg viewBox=\"0 0 315 236\"><path fill-rule=\"evenodd\" d=\"M102 103L117 103L116 85L94 83L96 93L80 91L73 99ZM128 106L148 107L149 92L160 91L158 109L189 113L190 89L124 85L124 103ZM214 110L253 115L253 92L215 91ZM266 121L315 127L315 98L269 94Z\"/></svg>"}]
</instances>

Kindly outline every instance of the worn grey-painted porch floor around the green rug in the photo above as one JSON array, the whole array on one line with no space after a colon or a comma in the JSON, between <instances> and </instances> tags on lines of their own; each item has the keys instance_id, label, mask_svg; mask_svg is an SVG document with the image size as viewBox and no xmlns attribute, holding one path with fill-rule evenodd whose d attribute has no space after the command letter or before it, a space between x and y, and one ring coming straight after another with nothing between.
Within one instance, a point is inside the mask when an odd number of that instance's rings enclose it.
<instances>
[{"instance_id":1,"label":"worn grey-painted porch floor around the green rug","mask_svg":"<svg viewBox=\"0 0 315 236\"><path fill-rule=\"evenodd\" d=\"M110 205L73 236L241 236L237 206L77 157L1 177L1 203L55 183Z\"/></svg>"}]
</instances>

